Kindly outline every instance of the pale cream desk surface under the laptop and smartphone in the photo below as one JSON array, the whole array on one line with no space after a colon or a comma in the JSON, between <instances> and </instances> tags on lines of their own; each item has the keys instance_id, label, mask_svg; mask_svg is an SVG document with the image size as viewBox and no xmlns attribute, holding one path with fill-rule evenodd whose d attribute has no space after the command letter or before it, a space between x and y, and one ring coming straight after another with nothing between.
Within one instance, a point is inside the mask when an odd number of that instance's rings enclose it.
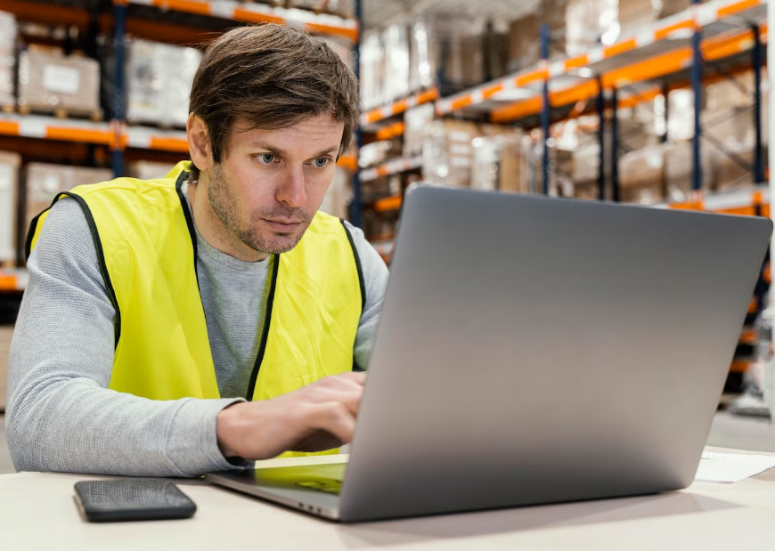
<instances>
[{"instance_id":1,"label":"pale cream desk surface under the laptop and smartphone","mask_svg":"<svg viewBox=\"0 0 775 551\"><path fill-rule=\"evenodd\" d=\"M734 450L711 449L734 453ZM320 458L330 461L330 458ZM274 460L266 466L276 466ZM298 461L298 459L296 460ZM89 524L77 513L71 474L0 475L4 549L699 549L775 548L775 469L736 484L555 506L343 525L203 481L176 481L194 518Z\"/></svg>"}]
</instances>

